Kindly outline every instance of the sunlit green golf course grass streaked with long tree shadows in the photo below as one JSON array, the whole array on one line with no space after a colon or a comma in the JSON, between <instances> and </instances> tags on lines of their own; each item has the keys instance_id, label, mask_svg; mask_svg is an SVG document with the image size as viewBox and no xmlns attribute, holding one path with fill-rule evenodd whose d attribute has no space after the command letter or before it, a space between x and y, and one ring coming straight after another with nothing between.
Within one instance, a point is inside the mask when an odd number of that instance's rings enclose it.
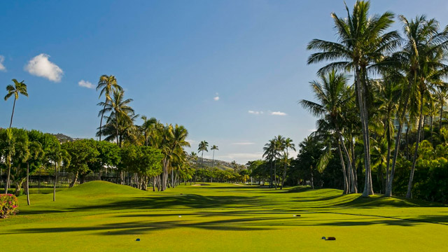
<instances>
[{"instance_id":1,"label":"sunlit green golf course grass streaked with long tree shadows","mask_svg":"<svg viewBox=\"0 0 448 252\"><path fill-rule=\"evenodd\" d=\"M447 207L333 189L95 181L30 197L0 221L1 251L448 251Z\"/></svg>"}]
</instances>

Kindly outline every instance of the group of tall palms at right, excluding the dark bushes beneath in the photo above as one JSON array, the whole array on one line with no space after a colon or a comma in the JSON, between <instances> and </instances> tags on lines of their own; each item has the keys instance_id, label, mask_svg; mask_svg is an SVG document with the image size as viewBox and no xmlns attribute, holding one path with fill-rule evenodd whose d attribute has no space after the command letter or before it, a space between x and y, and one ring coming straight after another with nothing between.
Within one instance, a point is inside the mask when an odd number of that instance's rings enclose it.
<instances>
[{"instance_id":1,"label":"group of tall palms at right, excluding the dark bushes beneath","mask_svg":"<svg viewBox=\"0 0 448 252\"><path fill-rule=\"evenodd\" d=\"M409 160L409 198L425 119L430 119L431 139L434 128L440 132L444 123L448 27L440 29L425 15L412 20L398 15L400 33L390 30L393 13L370 16L369 10L369 1L356 1L351 12L346 6L345 18L332 13L337 41L309 42L307 48L316 52L308 64L325 66L318 70L319 80L311 82L316 102L300 104L319 118L311 137L327 139L328 150L338 153L344 193L357 192L362 174L356 166L362 163L363 196L373 195L372 171L377 169L379 190L390 197L397 167ZM353 74L353 85L348 84L348 73ZM415 139L403 141L402 134L409 132Z\"/></svg>"}]
</instances>

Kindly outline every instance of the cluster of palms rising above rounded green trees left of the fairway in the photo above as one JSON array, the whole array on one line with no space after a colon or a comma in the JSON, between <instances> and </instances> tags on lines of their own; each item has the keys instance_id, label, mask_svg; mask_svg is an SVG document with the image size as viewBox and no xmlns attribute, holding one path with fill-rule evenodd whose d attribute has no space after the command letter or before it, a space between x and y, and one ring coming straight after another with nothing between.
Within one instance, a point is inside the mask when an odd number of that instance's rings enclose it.
<instances>
[{"instance_id":1,"label":"cluster of palms rising above rounded green trees left of the fairway","mask_svg":"<svg viewBox=\"0 0 448 252\"><path fill-rule=\"evenodd\" d=\"M105 141L115 141L120 148L127 146L148 146L162 152L162 172L153 174L153 188L166 190L174 188L181 179L191 179L192 172L188 164L185 147L190 144L186 141L188 131L182 125L163 125L155 118L143 119L142 125L136 125L139 115L130 106L132 99L125 98L125 91L118 85L115 76L103 75L99 78L97 90L99 98L103 95L104 102L99 102L100 125L97 137ZM103 125L103 118L106 123ZM124 174L120 174L121 183L124 183Z\"/></svg>"}]
</instances>

